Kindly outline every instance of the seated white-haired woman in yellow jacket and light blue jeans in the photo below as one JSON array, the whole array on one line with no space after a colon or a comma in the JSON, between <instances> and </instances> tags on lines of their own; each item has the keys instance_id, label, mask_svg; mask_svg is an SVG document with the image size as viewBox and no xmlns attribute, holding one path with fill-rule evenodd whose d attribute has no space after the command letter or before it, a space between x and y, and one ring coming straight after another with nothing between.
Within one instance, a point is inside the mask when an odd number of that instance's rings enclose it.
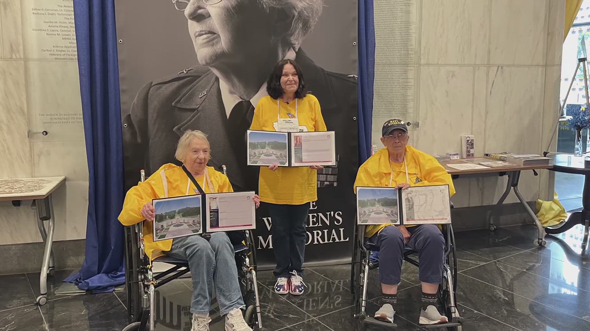
<instances>
[{"instance_id":1,"label":"seated white-haired woman in yellow jacket and light blue jeans","mask_svg":"<svg viewBox=\"0 0 590 331\"><path fill-rule=\"evenodd\" d=\"M198 194L185 169L205 193L231 192L227 176L208 167L211 146L201 131L186 131L176 147L175 157L183 167L164 164L146 181L132 187L126 194L119 221L125 225L143 223L145 252L150 259L166 254L187 260L192 277L191 331L209 330L209 311L213 290L217 291L219 309L225 316L226 331L251 331L242 316L244 300L238 283L234 249L224 232L211 234L209 240L195 234L162 241L153 241L151 221L155 217L152 199ZM260 198L254 196L256 207ZM215 287L213 286L215 283Z\"/></svg>"}]
</instances>

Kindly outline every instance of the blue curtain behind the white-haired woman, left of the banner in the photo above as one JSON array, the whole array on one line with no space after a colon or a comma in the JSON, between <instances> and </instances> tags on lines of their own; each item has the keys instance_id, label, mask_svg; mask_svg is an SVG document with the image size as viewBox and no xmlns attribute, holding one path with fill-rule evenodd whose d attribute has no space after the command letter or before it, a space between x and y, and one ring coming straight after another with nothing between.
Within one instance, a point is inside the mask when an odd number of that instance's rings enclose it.
<instances>
[{"instance_id":1,"label":"blue curtain behind the white-haired woman, left of the banner","mask_svg":"<svg viewBox=\"0 0 590 331\"><path fill-rule=\"evenodd\" d=\"M86 259L65 282L110 292L124 283L123 141L113 0L74 0L89 170Z\"/></svg>"}]
</instances>

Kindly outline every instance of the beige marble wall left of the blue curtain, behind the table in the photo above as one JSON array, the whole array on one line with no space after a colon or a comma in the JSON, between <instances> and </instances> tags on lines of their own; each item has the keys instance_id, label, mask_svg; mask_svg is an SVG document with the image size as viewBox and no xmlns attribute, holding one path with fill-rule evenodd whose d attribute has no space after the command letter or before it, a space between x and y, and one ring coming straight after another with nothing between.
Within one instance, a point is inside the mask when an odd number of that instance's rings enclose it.
<instances>
[{"instance_id":1,"label":"beige marble wall left of the blue curtain, behind the table","mask_svg":"<svg viewBox=\"0 0 590 331\"><path fill-rule=\"evenodd\" d=\"M75 59L39 55L47 45L34 30L43 23L32 8L69 13L68 5L71 1L0 0L0 178L66 176L65 186L54 193L55 240L86 237L88 170L80 85ZM65 127L47 124L47 114L76 120ZM41 134L44 130L48 135ZM30 201L21 207L1 201L0 224L8 229L0 231L0 244L41 241Z\"/></svg>"}]
</instances>

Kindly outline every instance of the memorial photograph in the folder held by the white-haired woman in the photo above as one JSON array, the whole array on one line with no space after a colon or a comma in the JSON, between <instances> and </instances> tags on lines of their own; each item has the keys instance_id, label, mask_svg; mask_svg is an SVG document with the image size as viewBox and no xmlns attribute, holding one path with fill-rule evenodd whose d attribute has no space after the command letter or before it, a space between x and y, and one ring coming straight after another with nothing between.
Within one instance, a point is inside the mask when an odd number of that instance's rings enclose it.
<instances>
[{"instance_id":1,"label":"memorial photograph in the folder held by the white-haired woman","mask_svg":"<svg viewBox=\"0 0 590 331\"><path fill-rule=\"evenodd\" d=\"M156 218L153 240L165 240L201 233L201 197L178 197L154 200Z\"/></svg>"}]
</instances>

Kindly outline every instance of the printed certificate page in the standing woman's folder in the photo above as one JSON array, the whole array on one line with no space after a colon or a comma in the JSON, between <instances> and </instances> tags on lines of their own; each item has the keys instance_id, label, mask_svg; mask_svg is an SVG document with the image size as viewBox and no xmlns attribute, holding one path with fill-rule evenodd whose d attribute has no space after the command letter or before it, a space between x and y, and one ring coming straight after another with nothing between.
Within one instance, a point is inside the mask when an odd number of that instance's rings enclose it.
<instances>
[{"instance_id":1,"label":"printed certificate page in the standing woman's folder","mask_svg":"<svg viewBox=\"0 0 590 331\"><path fill-rule=\"evenodd\" d=\"M334 166L334 131L291 133L291 166Z\"/></svg>"}]
</instances>

